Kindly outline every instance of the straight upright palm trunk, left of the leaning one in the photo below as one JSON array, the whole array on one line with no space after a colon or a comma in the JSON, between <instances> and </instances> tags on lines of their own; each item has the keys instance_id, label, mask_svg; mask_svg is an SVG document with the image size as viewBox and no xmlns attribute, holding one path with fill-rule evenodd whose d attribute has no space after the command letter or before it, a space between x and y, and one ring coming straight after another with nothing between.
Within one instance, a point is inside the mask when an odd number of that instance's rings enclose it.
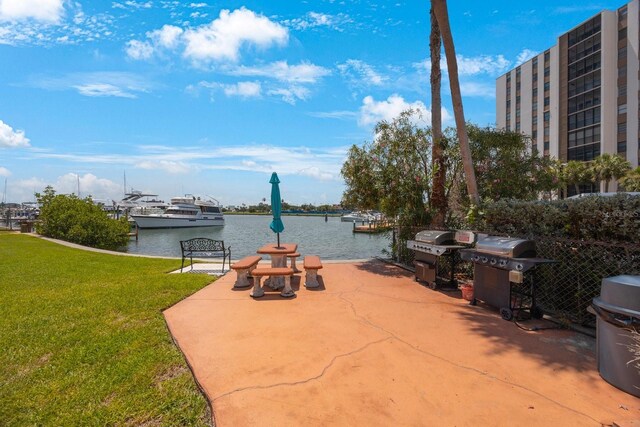
<instances>
[{"instance_id":1,"label":"straight upright palm trunk, left of the leaning one","mask_svg":"<svg viewBox=\"0 0 640 427\"><path fill-rule=\"evenodd\" d=\"M431 167L433 170L433 185L431 190L431 209L434 217L431 225L444 227L447 214L447 197L445 195L445 163L442 147L442 98L440 94L442 73L440 71L440 50L442 38L440 28L433 9L431 15L431 35L429 37L429 51L431 52Z\"/></svg>"}]
</instances>

